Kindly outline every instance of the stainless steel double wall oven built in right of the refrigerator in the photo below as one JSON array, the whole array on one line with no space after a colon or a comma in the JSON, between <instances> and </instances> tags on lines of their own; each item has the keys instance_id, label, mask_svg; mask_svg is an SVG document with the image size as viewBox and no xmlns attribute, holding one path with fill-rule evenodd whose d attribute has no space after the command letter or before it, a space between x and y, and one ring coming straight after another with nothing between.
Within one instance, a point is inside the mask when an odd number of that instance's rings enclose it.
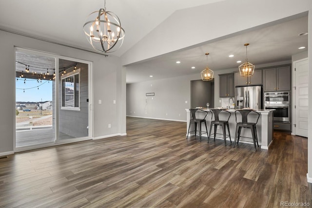
<instances>
[{"instance_id":1,"label":"stainless steel double wall oven built in right of the refrigerator","mask_svg":"<svg viewBox=\"0 0 312 208\"><path fill-rule=\"evenodd\" d=\"M273 121L290 122L290 92L264 93L264 109L274 109Z\"/></svg>"}]
</instances>

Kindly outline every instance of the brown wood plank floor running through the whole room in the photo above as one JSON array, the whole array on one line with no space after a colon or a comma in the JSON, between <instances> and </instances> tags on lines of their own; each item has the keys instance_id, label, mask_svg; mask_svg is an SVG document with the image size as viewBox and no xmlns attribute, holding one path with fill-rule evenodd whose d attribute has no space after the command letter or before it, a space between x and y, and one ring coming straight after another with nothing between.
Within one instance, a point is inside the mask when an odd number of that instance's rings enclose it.
<instances>
[{"instance_id":1,"label":"brown wood plank floor running through the whole room","mask_svg":"<svg viewBox=\"0 0 312 208\"><path fill-rule=\"evenodd\" d=\"M312 203L307 138L270 150L192 136L186 123L127 118L127 136L0 159L0 207L280 207Z\"/></svg>"}]
</instances>

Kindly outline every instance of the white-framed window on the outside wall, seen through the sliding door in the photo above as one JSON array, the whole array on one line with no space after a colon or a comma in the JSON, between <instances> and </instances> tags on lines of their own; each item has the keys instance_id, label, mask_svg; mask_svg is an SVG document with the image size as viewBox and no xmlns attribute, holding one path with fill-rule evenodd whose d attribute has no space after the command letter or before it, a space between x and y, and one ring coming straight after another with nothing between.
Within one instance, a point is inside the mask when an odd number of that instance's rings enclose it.
<instances>
[{"instance_id":1,"label":"white-framed window on the outside wall, seen through the sliding door","mask_svg":"<svg viewBox=\"0 0 312 208\"><path fill-rule=\"evenodd\" d=\"M61 77L62 88L62 107L61 109L80 110L79 93L80 93L80 69L75 73L69 73Z\"/></svg>"}]
</instances>

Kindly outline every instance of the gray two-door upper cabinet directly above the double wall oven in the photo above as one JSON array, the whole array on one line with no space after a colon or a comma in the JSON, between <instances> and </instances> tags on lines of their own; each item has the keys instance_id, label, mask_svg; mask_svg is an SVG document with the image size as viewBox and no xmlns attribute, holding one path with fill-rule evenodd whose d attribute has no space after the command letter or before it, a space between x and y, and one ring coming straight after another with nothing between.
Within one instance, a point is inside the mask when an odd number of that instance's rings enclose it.
<instances>
[{"instance_id":1,"label":"gray two-door upper cabinet directly above the double wall oven","mask_svg":"<svg viewBox=\"0 0 312 208\"><path fill-rule=\"evenodd\" d=\"M282 66L263 70L264 91L291 90L291 67Z\"/></svg>"}]
</instances>

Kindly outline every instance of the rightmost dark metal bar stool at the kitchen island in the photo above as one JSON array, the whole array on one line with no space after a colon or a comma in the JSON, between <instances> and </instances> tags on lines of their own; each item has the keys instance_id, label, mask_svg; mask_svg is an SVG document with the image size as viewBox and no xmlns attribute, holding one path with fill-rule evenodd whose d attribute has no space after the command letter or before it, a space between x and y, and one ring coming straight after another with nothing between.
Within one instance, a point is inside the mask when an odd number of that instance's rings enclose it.
<instances>
[{"instance_id":1,"label":"rightmost dark metal bar stool at the kitchen island","mask_svg":"<svg viewBox=\"0 0 312 208\"><path fill-rule=\"evenodd\" d=\"M237 116L236 116L237 112L239 112L241 114L241 117L242 117L241 122L237 122ZM251 123L251 122L247 121L249 113L251 113L251 114L256 113L256 115L258 116L255 123ZM237 138L237 144L238 144L238 141L240 138L240 132L241 132L242 128L248 128L248 129L251 129L251 131L252 131L253 141L254 141L254 149L255 149L255 151L257 151L256 144L258 147L259 147L259 144L258 144L257 128L255 125L257 124L259 117L260 117L260 113L254 111L254 110L244 109L244 110L235 111L236 131L235 131L234 147L236 144L236 138Z\"/></svg>"}]
</instances>

